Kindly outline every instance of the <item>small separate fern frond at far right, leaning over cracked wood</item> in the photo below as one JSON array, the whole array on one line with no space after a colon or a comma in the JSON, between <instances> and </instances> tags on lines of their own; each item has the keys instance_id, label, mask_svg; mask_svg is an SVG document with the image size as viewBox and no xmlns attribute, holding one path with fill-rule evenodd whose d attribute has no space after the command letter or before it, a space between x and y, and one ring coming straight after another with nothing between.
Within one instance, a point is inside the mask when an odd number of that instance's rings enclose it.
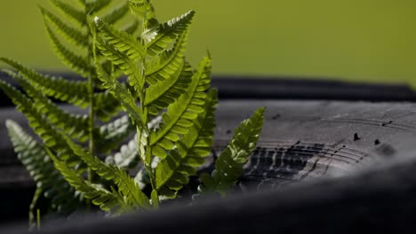
<instances>
[{"instance_id":1,"label":"small separate fern frond at far right, leaning over cracked wood","mask_svg":"<svg viewBox=\"0 0 416 234\"><path fill-rule=\"evenodd\" d=\"M244 164L256 147L263 127L264 110L264 107L258 109L251 118L243 121L236 128L227 148L215 161L215 170L212 175L201 175L200 179L203 184L198 187L200 192L218 191L224 194L236 183L243 173Z\"/></svg>"}]
</instances>

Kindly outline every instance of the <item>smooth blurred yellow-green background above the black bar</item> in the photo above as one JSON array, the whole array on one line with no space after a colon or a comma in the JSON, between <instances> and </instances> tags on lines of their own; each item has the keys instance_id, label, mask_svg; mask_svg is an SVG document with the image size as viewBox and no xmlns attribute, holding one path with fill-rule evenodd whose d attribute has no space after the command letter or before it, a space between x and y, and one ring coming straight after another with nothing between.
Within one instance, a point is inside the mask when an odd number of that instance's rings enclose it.
<instances>
[{"instance_id":1,"label":"smooth blurred yellow-green background above the black bar","mask_svg":"<svg viewBox=\"0 0 416 234\"><path fill-rule=\"evenodd\" d=\"M416 81L414 0L153 2L160 20L196 10L187 56L195 65L208 49L214 74ZM0 56L66 70L49 46L36 4L49 3L1 0Z\"/></svg>"}]
</instances>

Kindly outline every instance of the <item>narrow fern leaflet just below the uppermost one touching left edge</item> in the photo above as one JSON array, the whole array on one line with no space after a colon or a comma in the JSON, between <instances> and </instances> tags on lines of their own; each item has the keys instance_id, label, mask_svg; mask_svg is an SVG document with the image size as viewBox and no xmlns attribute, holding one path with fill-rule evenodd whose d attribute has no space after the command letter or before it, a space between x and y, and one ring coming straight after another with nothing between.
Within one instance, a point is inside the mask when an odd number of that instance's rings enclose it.
<instances>
[{"instance_id":1,"label":"narrow fern leaflet just below the uppermost one touching left edge","mask_svg":"<svg viewBox=\"0 0 416 234\"><path fill-rule=\"evenodd\" d=\"M5 70L5 72L20 83L23 90L25 90L28 96L35 101L34 105L38 112L43 113L51 124L55 125L57 128L65 129L69 136L76 138L81 142L88 139L88 115L72 114L63 111L18 74L7 70Z\"/></svg>"}]
</instances>

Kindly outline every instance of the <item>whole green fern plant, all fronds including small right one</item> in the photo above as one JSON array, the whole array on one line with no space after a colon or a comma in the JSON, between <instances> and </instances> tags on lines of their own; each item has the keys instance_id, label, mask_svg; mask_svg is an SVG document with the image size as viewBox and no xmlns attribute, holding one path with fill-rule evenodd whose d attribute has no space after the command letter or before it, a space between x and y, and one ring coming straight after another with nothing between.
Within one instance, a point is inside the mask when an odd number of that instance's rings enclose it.
<instances>
[{"instance_id":1,"label":"whole green fern plant, all fronds including small right one","mask_svg":"<svg viewBox=\"0 0 416 234\"><path fill-rule=\"evenodd\" d=\"M110 214L146 210L176 198L212 151L218 104L211 58L203 58L196 70L184 58L195 12L159 23L149 0L123 1L111 12L110 0L80 0L77 7L51 2L64 15L41 7L52 47L86 80L39 74L0 58L14 68L4 72L24 92L4 81L0 88L42 139L37 142L16 122L6 123L15 151L36 181L29 216L43 196L51 198L54 212L69 213L91 202ZM116 27L129 17L129 9L131 25ZM52 99L87 107L88 113L68 113ZM225 194L236 183L259 138L263 113L260 108L236 129L212 175L201 175L200 194ZM139 161L149 191L128 170Z\"/></svg>"}]
</instances>

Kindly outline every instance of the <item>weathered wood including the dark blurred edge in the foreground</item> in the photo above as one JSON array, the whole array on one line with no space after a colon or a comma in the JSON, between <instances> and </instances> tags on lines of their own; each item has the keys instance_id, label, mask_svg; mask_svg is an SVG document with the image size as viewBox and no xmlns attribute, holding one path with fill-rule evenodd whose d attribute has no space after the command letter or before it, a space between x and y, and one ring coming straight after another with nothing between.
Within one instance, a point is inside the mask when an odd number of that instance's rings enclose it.
<instances>
[{"instance_id":1,"label":"weathered wood including the dark blurred edge in the foreground","mask_svg":"<svg viewBox=\"0 0 416 234\"><path fill-rule=\"evenodd\" d=\"M351 233L363 225L414 233L415 104L223 101L216 148L260 105L266 122L242 186L262 191L104 222L54 222L44 233Z\"/></svg>"}]
</instances>

